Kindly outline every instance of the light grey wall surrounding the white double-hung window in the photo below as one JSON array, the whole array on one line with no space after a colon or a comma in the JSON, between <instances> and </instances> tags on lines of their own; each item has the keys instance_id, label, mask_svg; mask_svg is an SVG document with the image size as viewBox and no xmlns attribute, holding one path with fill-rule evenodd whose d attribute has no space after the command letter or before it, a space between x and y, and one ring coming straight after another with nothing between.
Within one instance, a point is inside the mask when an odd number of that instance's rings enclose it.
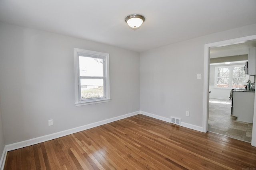
<instances>
[{"instance_id":1,"label":"light grey wall surrounding the white double-hung window","mask_svg":"<svg viewBox=\"0 0 256 170\"><path fill-rule=\"evenodd\" d=\"M109 53L110 102L74 106L74 47ZM0 23L0 91L6 145L132 113L139 53Z\"/></svg>"}]
</instances>

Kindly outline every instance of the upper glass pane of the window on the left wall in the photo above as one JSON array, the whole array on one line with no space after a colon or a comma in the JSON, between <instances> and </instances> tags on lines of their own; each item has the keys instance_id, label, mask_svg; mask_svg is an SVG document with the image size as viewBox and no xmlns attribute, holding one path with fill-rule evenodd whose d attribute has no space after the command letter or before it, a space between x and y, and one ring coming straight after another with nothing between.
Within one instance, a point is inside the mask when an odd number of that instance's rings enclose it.
<instances>
[{"instance_id":1,"label":"upper glass pane of the window on the left wall","mask_svg":"<svg viewBox=\"0 0 256 170\"><path fill-rule=\"evenodd\" d=\"M79 56L80 76L103 77L103 59Z\"/></svg>"}]
</instances>

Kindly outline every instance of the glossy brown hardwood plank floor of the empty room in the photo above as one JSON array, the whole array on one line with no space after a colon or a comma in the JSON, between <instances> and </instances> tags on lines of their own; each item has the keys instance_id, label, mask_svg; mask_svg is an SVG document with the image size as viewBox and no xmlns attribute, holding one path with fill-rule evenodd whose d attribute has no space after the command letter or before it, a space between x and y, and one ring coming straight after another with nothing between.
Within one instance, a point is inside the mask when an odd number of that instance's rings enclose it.
<instances>
[{"instance_id":1,"label":"glossy brown hardwood plank floor of the empty room","mask_svg":"<svg viewBox=\"0 0 256 170\"><path fill-rule=\"evenodd\" d=\"M7 153L5 170L253 169L256 147L136 115Z\"/></svg>"}]
</instances>

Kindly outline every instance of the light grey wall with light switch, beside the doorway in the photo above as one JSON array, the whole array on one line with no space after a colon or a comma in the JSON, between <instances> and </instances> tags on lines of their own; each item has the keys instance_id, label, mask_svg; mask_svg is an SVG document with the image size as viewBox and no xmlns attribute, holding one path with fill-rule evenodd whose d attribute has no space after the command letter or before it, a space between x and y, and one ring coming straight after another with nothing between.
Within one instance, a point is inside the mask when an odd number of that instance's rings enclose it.
<instances>
[{"instance_id":1,"label":"light grey wall with light switch, beside the doorway","mask_svg":"<svg viewBox=\"0 0 256 170\"><path fill-rule=\"evenodd\" d=\"M256 24L141 53L140 110L202 127L204 45L255 34Z\"/></svg>"}]
</instances>

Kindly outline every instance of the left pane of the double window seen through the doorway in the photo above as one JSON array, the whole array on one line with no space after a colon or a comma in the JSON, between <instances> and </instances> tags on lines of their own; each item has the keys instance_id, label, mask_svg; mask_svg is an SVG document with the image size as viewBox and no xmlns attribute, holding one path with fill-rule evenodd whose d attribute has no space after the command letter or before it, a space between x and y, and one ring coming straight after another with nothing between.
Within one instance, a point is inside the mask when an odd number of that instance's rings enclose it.
<instances>
[{"instance_id":1,"label":"left pane of the double window seen through the doorway","mask_svg":"<svg viewBox=\"0 0 256 170\"><path fill-rule=\"evenodd\" d=\"M228 88L229 86L229 68L217 69L217 87Z\"/></svg>"}]
</instances>

